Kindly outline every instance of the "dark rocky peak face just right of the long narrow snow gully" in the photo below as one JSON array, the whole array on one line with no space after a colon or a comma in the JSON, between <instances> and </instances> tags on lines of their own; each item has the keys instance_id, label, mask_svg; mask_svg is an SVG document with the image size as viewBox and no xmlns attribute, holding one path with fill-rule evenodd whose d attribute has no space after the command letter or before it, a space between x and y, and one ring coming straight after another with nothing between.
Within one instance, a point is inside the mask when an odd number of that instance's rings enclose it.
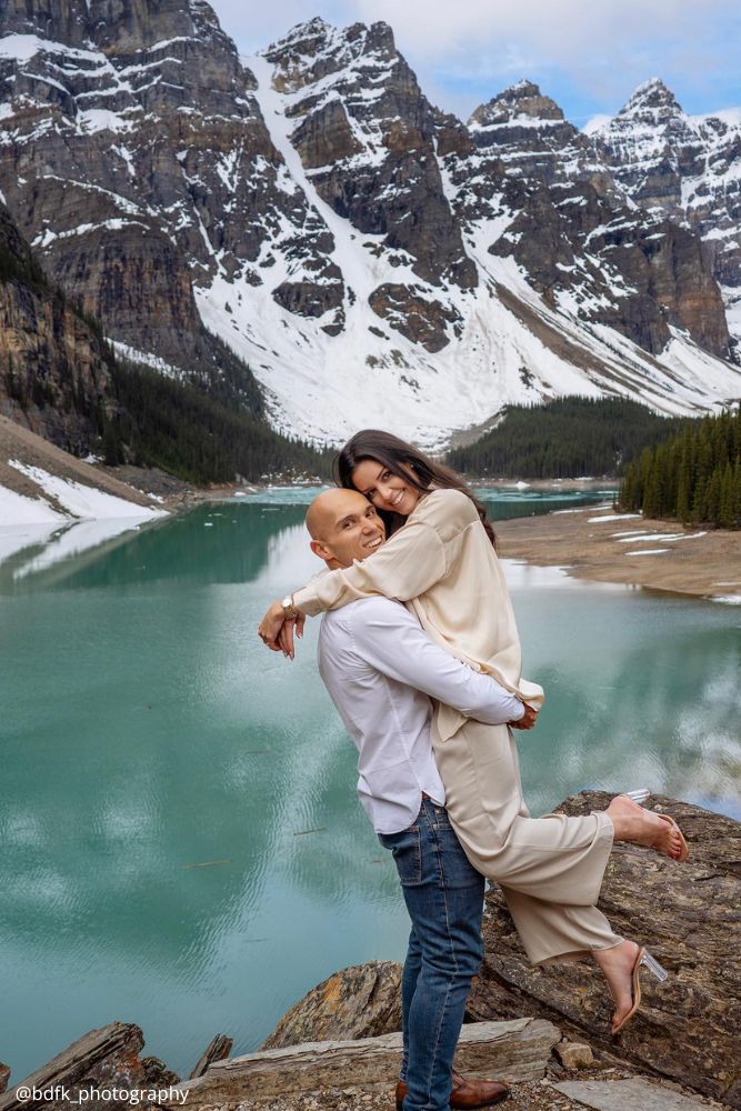
<instances>
[{"instance_id":1,"label":"dark rocky peak face just right of the long narrow snow gully","mask_svg":"<svg viewBox=\"0 0 741 1111\"><path fill-rule=\"evenodd\" d=\"M435 117L391 28L337 31L317 19L264 57L290 98L291 142L321 199L359 232L382 237L424 281L474 287L435 159Z\"/></svg>"}]
</instances>

